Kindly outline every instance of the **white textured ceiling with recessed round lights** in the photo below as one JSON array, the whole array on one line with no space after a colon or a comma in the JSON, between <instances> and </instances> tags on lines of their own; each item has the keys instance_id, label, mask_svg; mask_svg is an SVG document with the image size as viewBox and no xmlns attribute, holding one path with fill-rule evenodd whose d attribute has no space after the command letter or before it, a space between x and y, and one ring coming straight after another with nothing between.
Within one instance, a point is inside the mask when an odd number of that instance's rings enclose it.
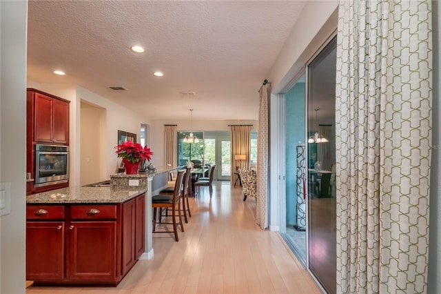
<instances>
[{"instance_id":1,"label":"white textured ceiling with recessed round lights","mask_svg":"<svg viewBox=\"0 0 441 294\"><path fill-rule=\"evenodd\" d=\"M28 79L78 84L146 119L189 119L189 108L194 119L257 119L258 89L304 5L29 1Z\"/></svg>"}]
</instances>

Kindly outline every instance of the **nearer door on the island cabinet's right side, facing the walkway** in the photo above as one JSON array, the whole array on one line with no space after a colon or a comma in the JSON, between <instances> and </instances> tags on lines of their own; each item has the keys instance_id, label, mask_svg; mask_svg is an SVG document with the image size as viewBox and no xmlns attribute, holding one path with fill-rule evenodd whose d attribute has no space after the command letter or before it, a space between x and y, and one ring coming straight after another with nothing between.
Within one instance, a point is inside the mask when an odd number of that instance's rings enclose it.
<instances>
[{"instance_id":1,"label":"nearer door on the island cabinet's right side, facing the walkway","mask_svg":"<svg viewBox=\"0 0 441 294\"><path fill-rule=\"evenodd\" d=\"M135 210L136 202L135 199L131 199L123 204L123 244L122 244L122 275L125 275L130 268L135 264Z\"/></svg>"}]
</instances>

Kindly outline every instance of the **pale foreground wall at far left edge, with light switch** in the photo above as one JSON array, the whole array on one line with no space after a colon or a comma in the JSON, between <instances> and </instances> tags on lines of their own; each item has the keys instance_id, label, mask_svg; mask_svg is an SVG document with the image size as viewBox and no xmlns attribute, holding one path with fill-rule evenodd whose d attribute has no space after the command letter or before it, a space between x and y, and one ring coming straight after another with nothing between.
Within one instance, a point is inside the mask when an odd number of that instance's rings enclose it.
<instances>
[{"instance_id":1,"label":"pale foreground wall at far left edge, with light switch","mask_svg":"<svg viewBox=\"0 0 441 294\"><path fill-rule=\"evenodd\" d=\"M27 1L0 1L0 182L10 214L0 218L0 293L25 293Z\"/></svg>"}]
</instances>

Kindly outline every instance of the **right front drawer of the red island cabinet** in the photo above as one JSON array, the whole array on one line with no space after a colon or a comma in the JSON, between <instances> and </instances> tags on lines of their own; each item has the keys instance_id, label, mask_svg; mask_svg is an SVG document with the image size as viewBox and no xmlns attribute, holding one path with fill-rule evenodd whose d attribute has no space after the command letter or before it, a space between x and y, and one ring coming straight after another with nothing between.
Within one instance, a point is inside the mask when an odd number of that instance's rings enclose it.
<instances>
[{"instance_id":1,"label":"right front drawer of the red island cabinet","mask_svg":"<svg viewBox=\"0 0 441 294\"><path fill-rule=\"evenodd\" d=\"M74 205L71 219L116 219L116 205Z\"/></svg>"}]
</instances>

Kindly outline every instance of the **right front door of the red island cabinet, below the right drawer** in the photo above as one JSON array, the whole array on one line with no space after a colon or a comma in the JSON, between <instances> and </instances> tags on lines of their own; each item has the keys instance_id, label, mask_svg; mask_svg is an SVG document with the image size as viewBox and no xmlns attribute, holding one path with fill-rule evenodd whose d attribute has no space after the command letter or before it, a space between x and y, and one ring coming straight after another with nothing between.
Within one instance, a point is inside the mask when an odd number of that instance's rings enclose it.
<instances>
[{"instance_id":1,"label":"right front door of the red island cabinet, below the right drawer","mask_svg":"<svg viewBox=\"0 0 441 294\"><path fill-rule=\"evenodd\" d=\"M116 222L71 222L68 280L116 282Z\"/></svg>"}]
</instances>

